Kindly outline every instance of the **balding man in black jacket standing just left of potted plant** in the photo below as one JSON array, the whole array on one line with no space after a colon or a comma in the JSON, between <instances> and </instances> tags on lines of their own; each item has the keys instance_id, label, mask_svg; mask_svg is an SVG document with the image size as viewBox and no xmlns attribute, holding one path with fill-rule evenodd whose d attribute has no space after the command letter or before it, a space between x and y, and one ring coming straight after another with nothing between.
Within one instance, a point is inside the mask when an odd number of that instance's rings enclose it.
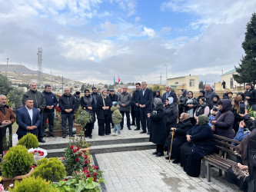
<instances>
[{"instance_id":1,"label":"balding man in black jacket standing just left of potted plant","mask_svg":"<svg viewBox=\"0 0 256 192\"><path fill-rule=\"evenodd\" d=\"M64 94L59 98L59 107L62 109L62 138L66 137L66 124L68 119L68 131L70 137L75 137L73 134L73 118L75 111L75 97L70 94L70 89L65 88Z\"/></svg>"}]
</instances>

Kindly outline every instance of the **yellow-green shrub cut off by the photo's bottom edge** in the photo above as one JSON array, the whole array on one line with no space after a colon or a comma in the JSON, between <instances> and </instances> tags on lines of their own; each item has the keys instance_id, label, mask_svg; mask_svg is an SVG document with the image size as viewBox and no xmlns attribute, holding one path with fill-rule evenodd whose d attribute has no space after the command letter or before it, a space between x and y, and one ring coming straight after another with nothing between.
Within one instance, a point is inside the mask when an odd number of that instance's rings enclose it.
<instances>
[{"instance_id":1,"label":"yellow-green shrub cut off by the photo's bottom edge","mask_svg":"<svg viewBox=\"0 0 256 192\"><path fill-rule=\"evenodd\" d=\"M22 191L47 191L47 192L56 192L59 191L55 189L52 184L49 184L46 180L41 177L27 177L22 179L21 182L18 180L15 181L15 187L10 189L10 192L22 192Z\"/></svg>"}]
</instances>

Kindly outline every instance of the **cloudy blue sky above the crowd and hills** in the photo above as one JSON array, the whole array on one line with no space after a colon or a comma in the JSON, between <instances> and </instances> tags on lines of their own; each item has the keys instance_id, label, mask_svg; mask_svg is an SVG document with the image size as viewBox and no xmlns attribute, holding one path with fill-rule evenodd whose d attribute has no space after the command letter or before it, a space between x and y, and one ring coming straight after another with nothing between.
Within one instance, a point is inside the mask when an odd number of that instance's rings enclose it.
<instances>
[{"instance_id":1,"label":"cloudy blue sky above the crowd and hills","mask_svg":"<svg viewBox=\"0 0 256 192\"><path fill-rule=\"evenodd\" d=\"M220 81L238 66L255 0L0 0L0 64L90 84ZM160 78L161 77L161 78Z\"/></svg>"}]
</instances>

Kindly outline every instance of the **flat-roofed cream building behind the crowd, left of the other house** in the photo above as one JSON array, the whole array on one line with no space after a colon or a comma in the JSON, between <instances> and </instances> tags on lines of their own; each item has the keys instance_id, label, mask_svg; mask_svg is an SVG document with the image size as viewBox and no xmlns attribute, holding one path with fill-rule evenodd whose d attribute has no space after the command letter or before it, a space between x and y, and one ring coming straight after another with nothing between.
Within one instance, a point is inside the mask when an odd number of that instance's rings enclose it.
<instances>
[{"instance_id":1,"label":"flat-roofed cream building behind the crowd, left of the other house","mask_svg":"<svg viewBox=\"0 0 256 192\"><path fill-rule=\"evenodd\" d=\"M190 75L178 78L168 78L167 84L176 89L187 89L188 91L199 90L199 76Z\"/></svg>"}]
</instances>

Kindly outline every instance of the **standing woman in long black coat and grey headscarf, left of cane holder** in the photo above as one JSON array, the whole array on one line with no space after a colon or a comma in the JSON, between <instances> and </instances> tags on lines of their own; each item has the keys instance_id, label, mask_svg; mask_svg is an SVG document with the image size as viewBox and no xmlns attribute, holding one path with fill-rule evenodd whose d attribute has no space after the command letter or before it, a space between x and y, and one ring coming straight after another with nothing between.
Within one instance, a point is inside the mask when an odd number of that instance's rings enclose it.
<instances>
[{"instance_id":1,"label":"standing woman in long black coat and grey headscarf, left of cane holder","mask_svg":"<svg viewBox=\"0 0 256 192\"><path fill-rule=\"evenodd\" d=\"M155 154L156 157L164 155L164 145L166 139L165 118L163 103L160 98L154 98L154 108L148 118L151 120L151 131L149 141L157 145Z\"/></svg>"}]
</instances>

